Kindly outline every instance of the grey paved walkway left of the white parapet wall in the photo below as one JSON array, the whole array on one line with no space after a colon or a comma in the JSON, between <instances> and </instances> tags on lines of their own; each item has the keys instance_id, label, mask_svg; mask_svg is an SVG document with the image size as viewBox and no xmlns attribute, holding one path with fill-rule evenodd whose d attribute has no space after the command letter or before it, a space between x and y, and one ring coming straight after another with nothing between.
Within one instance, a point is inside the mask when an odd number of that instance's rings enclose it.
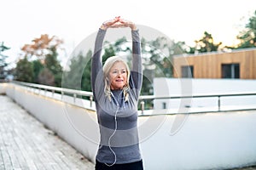
<instances>
[{"instance_id":1,"label":"grey paved walkway left of the white parapet wall","mask_svg":"<svg viewBox=\"0 0 256 170\"><path fill-rule=\"evenodd\" d=\"M94 169L92 162L0 95L0 170Z\"/></svg>"}]
</instances>

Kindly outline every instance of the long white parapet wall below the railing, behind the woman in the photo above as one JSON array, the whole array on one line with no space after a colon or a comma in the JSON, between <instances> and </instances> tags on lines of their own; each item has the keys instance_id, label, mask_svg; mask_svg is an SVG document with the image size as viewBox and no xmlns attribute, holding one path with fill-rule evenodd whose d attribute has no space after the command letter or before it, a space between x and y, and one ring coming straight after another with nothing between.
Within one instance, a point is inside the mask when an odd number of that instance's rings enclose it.
<instances>
[{"instance_id":1,"label":"long white parapet wall below the railing, behind the woman","mask_svg":"<svg viewBox=\"0 0 256 170\"><path fill-rule=\"evenodd\" d=\"M6 94L94 161L99 137L95 112L13 84L7 86ZM145 169L221 169L256 164L255 124L256 111L139 116Z\"/></svg>"}]
</instances>

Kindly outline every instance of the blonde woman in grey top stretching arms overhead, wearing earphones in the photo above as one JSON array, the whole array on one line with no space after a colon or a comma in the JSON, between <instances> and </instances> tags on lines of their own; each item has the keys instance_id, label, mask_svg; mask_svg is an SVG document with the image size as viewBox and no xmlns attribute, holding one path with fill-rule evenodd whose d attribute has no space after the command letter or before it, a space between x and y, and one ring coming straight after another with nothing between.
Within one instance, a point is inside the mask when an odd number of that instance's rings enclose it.
<instances>
[{"instance_id":1,"label":"blonde woman in grey top stretching arms overhead, wearing earphones","mask_svg":"<svg viewBox=\"0 0 256 170\"><path fill-rule=\"evenodd\" d=\"M130 27L131 71L125 59L110 57L102 66L102 42L108 28ZM96 170L142 170L143 161L137 133L137 101L142 88L142 59L138 30L130 21L116 17L100 27L91 61L91 86L101 141Z\"/></svg>"}]
</instances>

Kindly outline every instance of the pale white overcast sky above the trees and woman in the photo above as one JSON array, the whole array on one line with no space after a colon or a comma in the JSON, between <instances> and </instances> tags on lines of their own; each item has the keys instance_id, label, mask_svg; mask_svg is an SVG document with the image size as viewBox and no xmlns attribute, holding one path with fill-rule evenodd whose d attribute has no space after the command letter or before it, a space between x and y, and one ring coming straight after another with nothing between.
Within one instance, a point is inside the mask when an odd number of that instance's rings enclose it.
<instances>
[{"instance_id":1,"label":"pale white overcast sky above the trees and woman","mask_svg":"<svg viewBox=\"0 0 256 170\"><path fill-rule=\"evenodd\" d=\"M216 43L234 45L256 10L255 0L2 0L0 4L0 42L10 48L3 53L10 65L15 65L24 44L42 34L63 39L68 56L103 21L115 16L152 27L189 46L204 31Z\"/></svg>"}]
</instances>

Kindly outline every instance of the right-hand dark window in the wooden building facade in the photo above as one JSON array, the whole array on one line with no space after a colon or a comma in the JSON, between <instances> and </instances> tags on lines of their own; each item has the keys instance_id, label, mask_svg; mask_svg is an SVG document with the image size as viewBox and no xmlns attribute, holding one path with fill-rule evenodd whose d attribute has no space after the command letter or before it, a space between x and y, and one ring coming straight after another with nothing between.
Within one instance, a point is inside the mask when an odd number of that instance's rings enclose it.
<instances>
[{"instance_id":1,"label":"right-hand dark window in the wooden building facade","mask_svg":"<svg viewBox=\"0 0 256 170\"><path fill-rule=\"evenodd\" d=\"M239 64L223 64L221 65L222 78L240 78Z\"/></svg>"}]
</instances>

